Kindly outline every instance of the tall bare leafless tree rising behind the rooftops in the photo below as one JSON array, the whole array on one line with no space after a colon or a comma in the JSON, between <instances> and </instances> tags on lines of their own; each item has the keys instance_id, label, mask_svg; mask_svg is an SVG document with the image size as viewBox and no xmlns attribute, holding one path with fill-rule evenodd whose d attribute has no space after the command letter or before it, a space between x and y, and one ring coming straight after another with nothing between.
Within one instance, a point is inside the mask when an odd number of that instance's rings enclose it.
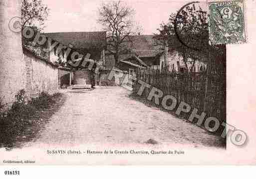
<instances>
[{"instance_id":1,"label":"tall bare leafless tree rising behind the rooftops","mask_svg":"<svg viewBox=\"0 0 256 179\"><path fill-rule=\"evenodd\" d=\"M133 28L141 30L134 22L135 11L121 1L102 3L98 11L98 22L107 31L108 51L118 63L120 54L127 53L127 43L132 42L130 37L135 34Z\"/></svg>"}]
</instances>

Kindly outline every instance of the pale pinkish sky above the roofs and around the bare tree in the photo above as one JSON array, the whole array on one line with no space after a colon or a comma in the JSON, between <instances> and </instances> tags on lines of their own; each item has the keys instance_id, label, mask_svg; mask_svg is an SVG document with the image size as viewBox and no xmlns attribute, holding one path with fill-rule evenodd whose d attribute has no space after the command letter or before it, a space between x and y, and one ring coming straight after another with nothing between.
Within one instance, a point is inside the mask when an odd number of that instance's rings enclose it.
<instances>
[{"instance_id":1,"label":"pale pinkish sky above the roofs and around the bare tree","mask_svg":"<svg viewBox=\"0 0 256 179\"><path fill-rule=\"evenodd\" d=\"M107 2L107 0L103 0ZM177 12L186 0L124 0L135 10L135 20L143 34L157 32L161 22L167 22L172 12ZM100 0L42 0L50 8L44 32L101 31L97 23ZM202 3L206 4L206 1Z\"/></svg>"}]
</instances>

